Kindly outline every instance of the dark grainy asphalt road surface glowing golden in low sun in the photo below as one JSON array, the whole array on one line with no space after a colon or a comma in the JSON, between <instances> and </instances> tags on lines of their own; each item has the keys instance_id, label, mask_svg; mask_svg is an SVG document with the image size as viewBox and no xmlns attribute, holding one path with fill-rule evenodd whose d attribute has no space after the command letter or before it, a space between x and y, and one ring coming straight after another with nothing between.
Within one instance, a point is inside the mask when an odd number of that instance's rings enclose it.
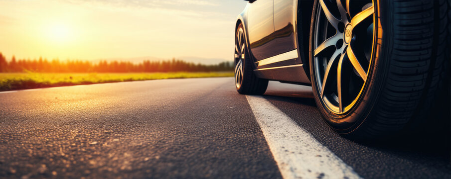
<instances>
[{"instance_id":1,"label":"dark grainy asphalt road surface glowing golden in low sun","mask_svg":"<svg viewBox=\"0 0 451 179\"><path fill-rule=\"evenodd\" d=\"M310 87L271 82L264 98L362 178L451 178L440 137L359 144L326 126ZM205 78L0 93L0 178L282 176L233 79Z\"/></svg>"}]
</instances>

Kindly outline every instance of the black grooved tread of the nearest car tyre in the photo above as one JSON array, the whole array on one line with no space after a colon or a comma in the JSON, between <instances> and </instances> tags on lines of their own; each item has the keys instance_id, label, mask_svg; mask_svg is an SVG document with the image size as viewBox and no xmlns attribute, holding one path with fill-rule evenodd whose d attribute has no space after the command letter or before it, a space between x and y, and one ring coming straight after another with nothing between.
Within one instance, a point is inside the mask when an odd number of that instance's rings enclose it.
<instances>
[{"instance_id":1,"label":"black grooved tread of the nearest car tyre","mask_svg":"<svg viewBox=\"0 0 451 179\"><path fill-rule=\"evenodd\" d=\"M415 131L439 97L450 61L450 0L393 0L385 86L363 131L370 138ZM414 37L414 38L413 38Z\"/></svg>"}]
</instances>

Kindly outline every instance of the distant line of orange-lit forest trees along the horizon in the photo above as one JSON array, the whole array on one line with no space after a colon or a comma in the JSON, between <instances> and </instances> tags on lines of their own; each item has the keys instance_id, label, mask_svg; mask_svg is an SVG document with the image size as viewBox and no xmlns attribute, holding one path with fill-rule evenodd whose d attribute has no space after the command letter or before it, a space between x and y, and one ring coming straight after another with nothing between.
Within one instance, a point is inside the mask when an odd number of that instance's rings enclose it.
<instances>
[{"instance_id":1,"label":"distant line of orange-lit forest trees along the horizon","mask_svg":"<svg viewBox=\"0 0 451 179\"><path fill-rule=\"evenodd\" d=\"M233 62L222 62L217 65L203 65L185 62L183 60L148 61L134 64L131 62L34 59L11 61L0 53L0 73L40 72L40 73L145 73L145 72L219 72L233 71Z\"/></svg>"}]
</instances>

